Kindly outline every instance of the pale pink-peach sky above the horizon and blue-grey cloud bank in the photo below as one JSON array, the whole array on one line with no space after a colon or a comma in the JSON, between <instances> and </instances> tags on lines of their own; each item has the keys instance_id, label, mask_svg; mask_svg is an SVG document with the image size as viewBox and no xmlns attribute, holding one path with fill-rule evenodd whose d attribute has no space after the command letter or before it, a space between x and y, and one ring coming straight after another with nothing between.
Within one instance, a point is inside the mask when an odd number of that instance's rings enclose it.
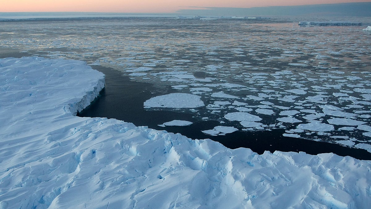
<instances>
[{"instance_id":1,"label":"pale pink-peach sky above the horizon and blue-grey cloud bank","mask_svg":"<svg viewBox=\"0 0 371 209\"><path fill-rule=\"evenodd\" d=\"M0 0L0 12L172 13L189 7L263 7L371 0Z\"/></svg>"}]
</instances>

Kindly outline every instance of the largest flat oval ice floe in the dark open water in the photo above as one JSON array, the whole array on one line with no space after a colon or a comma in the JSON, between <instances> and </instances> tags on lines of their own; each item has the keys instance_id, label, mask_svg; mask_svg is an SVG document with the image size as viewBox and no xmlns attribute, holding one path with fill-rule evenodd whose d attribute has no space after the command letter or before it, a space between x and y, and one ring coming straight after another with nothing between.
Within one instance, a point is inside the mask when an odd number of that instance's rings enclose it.
<instances>
[{"instance_id":1,"label":"largest flat oval ice floe in the dark open water","mask_svg":"<svg viewBox=\"0 0 371 209\"><path fill-rule=\"evenodd\" d=\"M171 93L153 97L144 102L145 107L194 108L205 106L200 96L187 93Z\"/></svg>"}]
</instances>

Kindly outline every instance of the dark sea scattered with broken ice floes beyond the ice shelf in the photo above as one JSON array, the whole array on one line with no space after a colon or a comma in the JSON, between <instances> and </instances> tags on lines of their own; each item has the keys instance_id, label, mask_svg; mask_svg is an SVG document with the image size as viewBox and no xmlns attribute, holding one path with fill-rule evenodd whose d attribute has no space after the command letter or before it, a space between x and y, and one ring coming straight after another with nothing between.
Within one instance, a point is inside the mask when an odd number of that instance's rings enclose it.
<instances>
[{"instance_id":1,"label":"dark sea scattered with broken ice floes beyond the ice shelf","mask_svg":"<svg viewBox=\"0 0 371 209\"><path fill-rule=\"evenodd\" d=\"M106 74L105 89L79 116L116 118L258 153L371 159L371 33L362 30L369 18L19 19L0 21L1 58L83 60ZM298 25L331 20L363 25ZM204 106L144 106L172 93L200 96ZM172 120L193 124L163 125Z\"/></svg>"}]
</instances>

